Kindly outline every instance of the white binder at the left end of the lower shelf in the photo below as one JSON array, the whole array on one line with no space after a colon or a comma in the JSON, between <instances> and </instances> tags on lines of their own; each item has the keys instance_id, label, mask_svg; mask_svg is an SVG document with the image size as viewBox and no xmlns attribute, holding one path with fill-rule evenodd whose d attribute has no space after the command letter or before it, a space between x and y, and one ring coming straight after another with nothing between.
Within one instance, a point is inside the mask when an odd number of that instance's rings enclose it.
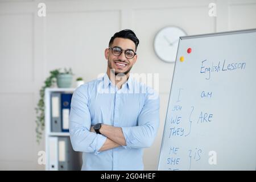
<instances>
[{"instance_id":1,"label":"white binder at the left end of the lower shelf","mask_svg":"<svg viewBox=\"0 0 256 182\"><path fill-rule=\"evenodd\" d=\"M58 138L49 137L49 170L57 171L58 165Z\"/></svg>"}]
</instances>

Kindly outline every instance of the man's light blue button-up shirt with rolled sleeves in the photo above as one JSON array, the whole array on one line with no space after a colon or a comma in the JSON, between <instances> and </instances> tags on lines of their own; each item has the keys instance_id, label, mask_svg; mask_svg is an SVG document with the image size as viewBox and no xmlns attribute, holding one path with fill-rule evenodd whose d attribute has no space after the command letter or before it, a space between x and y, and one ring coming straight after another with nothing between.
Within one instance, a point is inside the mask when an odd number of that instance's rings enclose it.
<instances>
[{"instance_id":1,"label":"man's light blue button-up shirt with rolled sleeves","mask_svg":"<svg viewBox=\"0 0 256 182\"><path fill-rule=\"evenodd\" d=\"M82 170L143 170L143 148L159 127L158 93L131 76L118 90L105 74L75 90L69 122L73 149L83 152ZM121 127L126 146L100 152L106 137L90 132L97 123Z\"/></svg>"}]
</instances>

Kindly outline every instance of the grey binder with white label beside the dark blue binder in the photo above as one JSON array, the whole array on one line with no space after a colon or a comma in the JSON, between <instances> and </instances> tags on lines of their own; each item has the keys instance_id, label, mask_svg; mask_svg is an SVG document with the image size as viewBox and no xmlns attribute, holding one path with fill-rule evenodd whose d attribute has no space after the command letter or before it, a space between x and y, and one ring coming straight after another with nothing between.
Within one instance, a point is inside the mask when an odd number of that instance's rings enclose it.
<instances>
[{"instance_id":1,"label":"grey binder with white label beside the dark blue binder","mask_svg":"<svg viewBox=\"0 0 256 182\"><path fill-rule=\"evenodd\" d=\"M51 132L61 132L61 93L51 93Z\"/></svg>"}]
</instances>

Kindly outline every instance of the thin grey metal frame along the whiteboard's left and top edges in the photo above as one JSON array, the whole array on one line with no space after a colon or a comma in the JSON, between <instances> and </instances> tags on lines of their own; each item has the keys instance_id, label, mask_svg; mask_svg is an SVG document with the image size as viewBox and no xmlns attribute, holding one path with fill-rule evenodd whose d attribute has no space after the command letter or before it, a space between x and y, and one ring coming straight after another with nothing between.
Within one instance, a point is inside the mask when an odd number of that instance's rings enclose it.
<instances>
[{"instance_id":1,"label":"thin grey metal frame along the whiteboard's left and top edges","mask_svg":"<svg viewBox=\"0 0 256 182\"><path fill-rule=\"evenodd\" d=\"M247 33L251 33L251 32L256 32L256 28L252 28L252 29L245 29L245 30L236 30L236 31L225 31L225 32L216 32L216 33L211 33L211 34L198 34L198 35L189 35L189 36L181 36L179 39L179 45L177 48L177 52L176 52L176 59L175 59L175 65L174 65L174 73L172 74L172 82L174 81L174 75L175 75L175 68L176 68L176 63L177 63L177 53L179 52L179 48L180 48L180 44L181 44L181 40L185 40L185 39L196 39L196 38L208 38L210 36L222 36L222 35L233 35L233 34L247 34ZM169 110L169 106L170 106L170 98L171 98L171 92L172 92L172 84L171 84L171 89L170 89L170 94L169 94L169 100L168 100L168 106L167 106L167 111L166 111L166 119L167 119L167 115L168 115L168 110ZM161 155L162 155L162 149L163 149L163 142L164 142L164 137L165 137L165 133L166 133L166 119L164 121L164 130L163 130L163 137L162 137L162 143L161 143L161 147L160 147L160 155L159 155L159 159L158 159L158 171L159 171L159 164L160 164L160 159L161 159Z\"/></svg>"}]
</instances>

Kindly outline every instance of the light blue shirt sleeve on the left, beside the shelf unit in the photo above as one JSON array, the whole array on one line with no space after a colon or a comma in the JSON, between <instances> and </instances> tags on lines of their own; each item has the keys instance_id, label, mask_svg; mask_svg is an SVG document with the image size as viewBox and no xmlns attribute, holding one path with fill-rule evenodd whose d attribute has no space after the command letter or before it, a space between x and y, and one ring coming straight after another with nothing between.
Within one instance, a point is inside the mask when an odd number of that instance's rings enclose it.
<instances>
[{"instance_id":1,"label":"light blue shirt sleeve on the left, beside the shelf unit","mask_svg":"<svg viewBox=\"0 0 256 182\"><path fill-rule=\"evenodd\" d=\"M90 132L91 118L88 108L88 85L75 90L69 114L69 134L73 150L98 154L106 137Z\"/></svg>"}]
</instances>

